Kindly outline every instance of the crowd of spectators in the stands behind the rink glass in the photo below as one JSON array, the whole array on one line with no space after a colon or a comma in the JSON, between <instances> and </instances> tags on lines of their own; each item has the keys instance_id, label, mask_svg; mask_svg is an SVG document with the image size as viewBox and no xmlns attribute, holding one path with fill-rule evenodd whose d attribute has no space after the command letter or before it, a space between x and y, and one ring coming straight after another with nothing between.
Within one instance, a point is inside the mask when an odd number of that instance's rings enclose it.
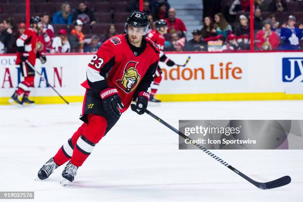
<instances>
[{"instance_id":1,"label":"crowd of spectators in the stands behind the rink glass","mask_svg":"<svg viewBox=\"0 0 303 202\"><path fill-rule=\"evenodd\" d=\"M303 49L302 0L253 1L255 50ZM38 49L50 53L96 52L105 40L123 33L126 17L131 11L139 9L138 2L121 2L125 10L118 10L112 2L62 2L56 11L39 15L44 29L38 33L41 41ZM108 12L96 12L102 9L107 9ZM143 9L151 19L151 30L155 29L156 20L163 19L167 23L164 50L251 49L250 0L203 0L203 26L192 32L192 40L187 40L186 25L176 17L178 13L170 6L169 0L144 0ZM13 17L6 17L0 23L0 53L16 52L15 41L24 33L25 28L24 22L17 24Z\"/></svg>"}]
</instances>

